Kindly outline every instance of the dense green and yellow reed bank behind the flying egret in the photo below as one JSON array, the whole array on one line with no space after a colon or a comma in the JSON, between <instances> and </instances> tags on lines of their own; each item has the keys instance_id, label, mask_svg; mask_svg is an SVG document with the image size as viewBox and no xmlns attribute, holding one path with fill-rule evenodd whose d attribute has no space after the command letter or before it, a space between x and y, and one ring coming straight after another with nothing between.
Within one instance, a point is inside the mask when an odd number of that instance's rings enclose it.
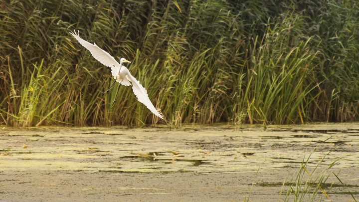
<instances>
[{"instance_id":1,"label":"dense green and yellow reed bank behind the flying egret","mask_svg":"<svg viewBox=\"0 0 359 202\"><path fill-rule=\"evenodd\" d=\"M4 0L0 124L165 123L70 34L119 59L171 125L359 120L357 0Z\"/></svg>"}]
</instances>

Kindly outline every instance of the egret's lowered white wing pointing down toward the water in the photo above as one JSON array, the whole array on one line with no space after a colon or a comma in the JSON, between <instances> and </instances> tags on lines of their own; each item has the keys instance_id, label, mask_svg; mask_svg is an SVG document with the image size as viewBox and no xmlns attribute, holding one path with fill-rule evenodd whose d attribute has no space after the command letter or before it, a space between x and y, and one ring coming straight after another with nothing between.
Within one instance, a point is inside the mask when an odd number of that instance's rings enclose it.
<instances>
[{"instance_id":1,"label":"egret's lowered white wing pointing down toward the water","mask_svg":"<svg viewBox=\"0 0 359 202\"><path fill-rule=\"evenodd\" d=\"M148 97L147 90L140 84L140 82L130 73L126 75L126 78L131 81L132 90L136 95L138 101L146 105L146 107L156 116L160 117L161 119L164 119L162 114L152 104L150 98Z\"/></svg>"}]
</instances>

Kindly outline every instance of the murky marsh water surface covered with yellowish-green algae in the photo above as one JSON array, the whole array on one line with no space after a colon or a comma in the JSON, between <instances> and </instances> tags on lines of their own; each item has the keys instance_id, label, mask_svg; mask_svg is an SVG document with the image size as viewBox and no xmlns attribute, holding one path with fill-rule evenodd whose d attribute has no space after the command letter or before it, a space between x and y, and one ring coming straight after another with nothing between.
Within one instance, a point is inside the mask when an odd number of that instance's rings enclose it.
<instances>
[{"instance_id":1,"label":"murky marsh water surface covered with yellowish-green algae","mask_svg":"<svg viewBox=\"0 0 359 202\"><path fill-rule=\"evenodd\" d=\"M0 201L283 201L309 155L309 172L324 158L313 175L326 171L331 200L359 199L358 123L3 127L0 136Z\"/></svg>"}]
</instances>

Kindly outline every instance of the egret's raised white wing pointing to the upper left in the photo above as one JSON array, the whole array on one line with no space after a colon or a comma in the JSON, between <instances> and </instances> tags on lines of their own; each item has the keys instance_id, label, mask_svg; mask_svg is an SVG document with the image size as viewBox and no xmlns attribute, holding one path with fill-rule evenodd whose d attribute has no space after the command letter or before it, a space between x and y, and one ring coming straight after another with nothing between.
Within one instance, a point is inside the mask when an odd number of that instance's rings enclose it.
<instances>
[{"instance_id":1,"label":"egret's raised white wing pointing to the upper left","mask_svg":"<svg viewBox=\"0 0 359 202\"><path fill-rule=\"evenodd\" d=\"M95 43L91 44L85 41L84 39L82 39L79 36L79 31L77 31L76 33L76 30L74 30L74 32L71 31L70 34L73 35L83 47L88 49L91 52L92 56L95 59L97 59L99 62L101 62L103 65L111 68L120 66L120 64L115 60L115 58L112 57L108 52L102 50Z\"/></svg>"}]
</instances>

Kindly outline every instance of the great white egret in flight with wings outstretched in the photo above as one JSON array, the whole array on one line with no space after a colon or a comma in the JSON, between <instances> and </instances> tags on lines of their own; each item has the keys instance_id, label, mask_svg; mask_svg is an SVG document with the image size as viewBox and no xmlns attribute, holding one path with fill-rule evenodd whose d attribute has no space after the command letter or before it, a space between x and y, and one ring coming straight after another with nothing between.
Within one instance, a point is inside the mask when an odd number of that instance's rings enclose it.
<instances>
[{"instance_id":1,"label":"great white egret in flight with wings outstretched","mask_svg":"<svg viewBox=\"0 0 359 202\"><path fill-rule=\"evenodd\" d=\"M133 77L131 75L130 71L125 66L122 65L122 63L124 63L124 62L130 62L130 61L128 61L125 58L121 58L120 64L119 64L115 60L114 57L112 57L108 52L99 48L95 43L91 44L91 43L85 41L84 39L82 39L79 36L79 31L77 31L77 33L76 33L76 30L74 30L74 32L70 32L70 34L73 35L82 46L84 46L86 49L88 49L95 59L97 59L103 65L111 68L111 73L112 73L112 76L114 77L115 81L114 81L114 83L112 83L110 88L116 83L116 81L119 83L119 87L120 87L120 84L122 84L124 86L129 86L132 83L132 90L133 90L134 94L136 95L138 101L141 102L142 104L146 105L146 107L152 113L154 113L156 116L163 119L162 114L159 112L159 110L157 110L155 108L155 106L152 104L150 98L148 97L147 90L140 84L140 82L138 80L136 80L135 77ZM119 87L117 88L117 93L118 93ZM107 92L110 90L110 88L105 91L105 94L107 94ZM117 97L117 93L116 93L115 99ZM115 102L115 99L113 100L113 102L111 104L113 104Z\"/></svg>"}]
</instances>

